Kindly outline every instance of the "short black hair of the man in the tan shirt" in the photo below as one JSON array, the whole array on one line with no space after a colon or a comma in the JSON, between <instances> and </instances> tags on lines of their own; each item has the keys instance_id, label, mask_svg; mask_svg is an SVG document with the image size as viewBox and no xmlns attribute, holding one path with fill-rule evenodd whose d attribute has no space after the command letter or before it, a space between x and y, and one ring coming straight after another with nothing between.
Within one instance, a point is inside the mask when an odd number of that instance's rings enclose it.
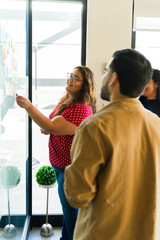
<instances>
[{"instance_id":1,"label":"short black hair of the man in the tan shirt","mask_svg":"<svg viewBox=\"0 0 160 240\"><path fill-rule=\"evenodd\" d=\"M140 96L152 77L148 59L133 49L116 51L110 68L118 75L120 93L131 98Z\"/></svg>"}]
</instances>

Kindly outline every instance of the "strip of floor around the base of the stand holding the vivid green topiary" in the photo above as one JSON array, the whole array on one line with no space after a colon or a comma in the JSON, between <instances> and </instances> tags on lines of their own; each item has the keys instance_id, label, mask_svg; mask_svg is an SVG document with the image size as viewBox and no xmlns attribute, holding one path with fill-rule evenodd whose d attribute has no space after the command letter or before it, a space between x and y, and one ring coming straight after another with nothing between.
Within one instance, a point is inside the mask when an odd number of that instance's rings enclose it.
<instances>
[{"instance_id":1,"label":"strip of floor around the base of the stand holding the vivid green topiary","mask_svg":"<svg viewBox=\"0 0 160 240\"><path fill-rule=\"evenodd\" d=\"M61 228L53 228L53 235L51 237L42 237L40 235L40 228L33 228L32 231L29 233L28 240L59 240L61 237Z\"/></svg>"}]
</instances>

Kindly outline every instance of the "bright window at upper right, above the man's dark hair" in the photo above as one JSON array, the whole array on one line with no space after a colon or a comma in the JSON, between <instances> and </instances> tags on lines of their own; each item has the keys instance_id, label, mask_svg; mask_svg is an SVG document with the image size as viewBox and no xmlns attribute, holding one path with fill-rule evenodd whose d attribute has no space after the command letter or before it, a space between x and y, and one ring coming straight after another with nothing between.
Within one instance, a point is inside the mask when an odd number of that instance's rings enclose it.
<instances>
[{"instance_id":1,"label":"bright window at upper right, above the man's dark hair","mask_svg":"<svg viewBox=\"0 0 160 240\"><path fill-rule=\"evenodd\" d=\"M143 53L153 68L160 69L160 1L133 0L135 48Z\"/></svg>"}]
</instances>

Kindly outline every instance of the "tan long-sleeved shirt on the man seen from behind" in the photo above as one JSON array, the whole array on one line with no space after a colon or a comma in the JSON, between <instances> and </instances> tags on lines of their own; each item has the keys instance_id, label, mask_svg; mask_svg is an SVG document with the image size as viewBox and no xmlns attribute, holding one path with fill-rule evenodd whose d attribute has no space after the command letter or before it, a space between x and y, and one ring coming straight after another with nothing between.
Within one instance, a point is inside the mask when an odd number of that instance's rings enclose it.
<instances>
[{"instance_id":1,"label":"tan long-sleeved shirt on the man seen from behind","mask_svg":"<svg viewBox=\"0 0 160 240\"><path fill-rule=\"evenodd\" d=\"M75 134L64 190L80 208L74 240L160 240L160 119L113 101Z\"/></svg>"}]
</instances>

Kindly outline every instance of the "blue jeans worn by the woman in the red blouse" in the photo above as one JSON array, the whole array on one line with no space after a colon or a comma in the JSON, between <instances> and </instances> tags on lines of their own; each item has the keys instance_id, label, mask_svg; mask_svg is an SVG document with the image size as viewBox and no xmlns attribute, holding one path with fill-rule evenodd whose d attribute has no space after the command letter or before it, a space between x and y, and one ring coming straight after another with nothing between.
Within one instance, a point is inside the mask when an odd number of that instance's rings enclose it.
<instances>
[{"instance_id":1,"label":"blue jeans worn by the woman in the red blouse","mask_svg":"<svg viewBox=\"0 0 160 240\"><path fill-rule=\"evenodd\" d=\"M53 166L53 165L52 165ZM75 223L77 220L78 209L75 209L69 205L64 194L64 168L58 168L53 166L56 172L57 183L58 183L58 194L63 211L63 226L62 226L62 237L61 240L72 240Z\"/></svg>"}]
</instances>

